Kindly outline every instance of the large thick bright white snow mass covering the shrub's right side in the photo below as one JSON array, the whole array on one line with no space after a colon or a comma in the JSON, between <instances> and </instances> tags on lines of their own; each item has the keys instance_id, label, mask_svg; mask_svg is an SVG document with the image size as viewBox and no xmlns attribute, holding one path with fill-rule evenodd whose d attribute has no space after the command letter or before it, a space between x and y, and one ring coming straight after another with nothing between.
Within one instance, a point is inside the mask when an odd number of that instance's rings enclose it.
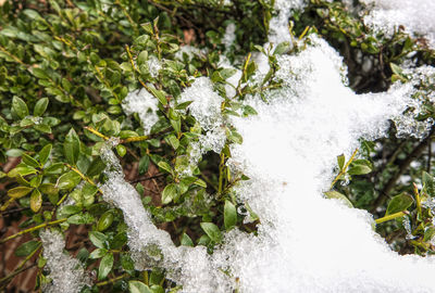
<instances>
[{"instance_id":1,"label":"large thick bright white snow mass covering the shrub's right side","mask_svg":"<svg viewBox=\"0 0 435 293\"><path fill-rule=\"evenodd\" d=\"M240 292L433 292L433 257L399 256L372 230L369 213L323 196L336 155L349 155L360 137L385 136L414 93L396 85L358 95L341 64L314 39L282 58L278 76L288 79L269 103L249 100L259 114L233 120L244 143L233 145L229 165L251 178L236 192L261 219L258 238L227 235L222 247Z\"/></svg>"}]
</instances>

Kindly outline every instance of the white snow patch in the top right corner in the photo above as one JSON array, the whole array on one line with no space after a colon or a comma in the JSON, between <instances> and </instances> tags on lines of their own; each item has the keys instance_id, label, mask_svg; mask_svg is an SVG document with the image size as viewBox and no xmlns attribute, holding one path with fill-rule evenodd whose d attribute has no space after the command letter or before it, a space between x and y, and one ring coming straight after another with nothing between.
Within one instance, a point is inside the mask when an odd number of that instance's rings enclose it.
<instances>
[{"instance_id":1,"label":"white snow patch in the top right corner","mask_svg":"<svg viewBox=\"0 0 435 293\"><path fill-rule=\"evenodd\" d=\"M432 0L364 0L373 5L373 10L364 17L364 23L386 36L393 36L399 26L415 37L428 39L435 46L435 22L433 12L435 1Z\"/></svg>"}]
</instances>

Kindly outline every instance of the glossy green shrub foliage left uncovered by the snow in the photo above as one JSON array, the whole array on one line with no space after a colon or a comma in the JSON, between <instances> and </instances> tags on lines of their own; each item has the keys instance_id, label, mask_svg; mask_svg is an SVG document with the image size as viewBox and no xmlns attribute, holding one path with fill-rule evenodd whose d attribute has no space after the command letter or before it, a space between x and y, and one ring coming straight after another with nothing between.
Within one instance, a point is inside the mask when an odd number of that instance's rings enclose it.
<instances>
[{"instance_id":1,"label":"glossy green shrub foliage left uncovered by the snow","mask_svg":"<svg viewBox=\"0 0 435 293\"><path fill-rule=\"evenodd\" d=\"M111 286L140 293L179 289L159 267L145 272L134 268L122 211L104 202L99 188L108 180L101 148L110 142L119 142L114 149L126 178L136 187L152 220L170 232L174 243L204 245L212 252L222 243L224 231L239 228L256 233L254 224L260 219L232 194L232 187L248 178L232 174L225 165L232 156L231 145L241 143L243 137L223 126L226 141L222 152L206 154L186 175L192 144L206 130L186 111L191 101L182 103L179 98L195 78L208 76L224 100L224 119L257 114L240 101L257 93L265 99L266 89L279 87L277 56L300 49L288 42L275 48L259 46L266 42L273 1L239 0L231 5L222 1L18 2L0 5L0 211L12 211L23 233L33 238L18 246L15 255L38 255L37 289L47 278L46 259L38 253L38 230L48 226L63 233L72 226L85 228L87 237L77 249L77 259L96 272L91 292ZM361 17L338 1L310 2L304 12L294 14L291 34L303 39L318 31L345 52L351 87L358 92L385 89L391 80L405 82L407 76L396 64L410 52L417 52L418 62L434 61L432 51L401 31L391 39L373 36ZM229 23L236 25L236 42L228 49L222 36ZM208 53L181 53L190 42L184 39L188 31L195 33L195 44ZM254 78L258 64L251 52L256 51L265 54L270 65L261 80ZM362 74L369 80L365 84L359 79L362 65L355 59L358 52L383 60ZM231 85L234 97L227 97L226 86L237 69L220 67L220 55L241 72L237 85ZM152 60L162 64L157 74L149 66ZM422 94L432 88L420 85ZM122 107L128 92L138 89L146 89L158 103L158 122L150 133L145 132L138 115L127 116ZM431 103L425 111L421 119L435 117ZM409 219L407 233L412 239L397 237L395 249L433 253L433 212L422 205L435 196L433 160L431 155L415 158L428 165L427 173L421 167L409 170L411 181L422 183L420 191L415 193L410 184L396 184L396 180L387 195L399 195L376 204L376 199L384 196L378 190L388 186L398 164L419 142L398 141L391 136L378 143L388 162L374 150L374 143L361 141L358 158L337 157L337 177L325 196L349 207L371 209L377 217L402 212L376 229L384 237L403 232L403 221ZM244 224L248 216L254 220L252 226Z\"/></svg>"}]
</instances>

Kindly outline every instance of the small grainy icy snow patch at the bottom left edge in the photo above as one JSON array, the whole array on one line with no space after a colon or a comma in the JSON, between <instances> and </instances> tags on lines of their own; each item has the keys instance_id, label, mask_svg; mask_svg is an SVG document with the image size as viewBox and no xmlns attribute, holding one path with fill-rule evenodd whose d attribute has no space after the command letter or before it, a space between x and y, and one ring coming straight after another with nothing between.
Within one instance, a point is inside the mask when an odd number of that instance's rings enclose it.
<instances>
[{"instance_id":1,"label":"small grainy icy snow patch at the bottom left edge","mask_svg":"<svg viewBox=\"0 0 435 293\"><path fill-rule=\"evenodd\" d=\"M90 278L85 273L80 263L63 253L65 241L63 235L48 229L41 230L44 257L50 270L48 276L52 282L42 288L47 293L78 293L85 285L90 284Z\"/></svg>"}]
</instances>

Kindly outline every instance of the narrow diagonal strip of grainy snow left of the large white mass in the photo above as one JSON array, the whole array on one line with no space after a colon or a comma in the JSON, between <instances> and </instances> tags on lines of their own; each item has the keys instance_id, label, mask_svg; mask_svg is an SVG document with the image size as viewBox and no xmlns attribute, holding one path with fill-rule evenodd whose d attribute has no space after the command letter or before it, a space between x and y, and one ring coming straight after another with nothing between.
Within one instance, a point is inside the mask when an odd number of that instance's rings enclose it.
<instances>
[{"instance_id":1,"label":"narrow diagonal strip of grainy snow left of the large white mass","mask_svg":"<svg viewBox=\"0 0 435 293\"><path fill-rule=\"evenodd\" d=\"M233 286L204 246L176 247L166 231L158 229L145 209L136 189L124 180L114 153L105 146L102 158L108 164L108 181L101 186L104 201L121 208L128 226L128 246L137 270L162 267L166 278L183 285L185 293L231 292Z\"/></svg>"}]
</instances>

